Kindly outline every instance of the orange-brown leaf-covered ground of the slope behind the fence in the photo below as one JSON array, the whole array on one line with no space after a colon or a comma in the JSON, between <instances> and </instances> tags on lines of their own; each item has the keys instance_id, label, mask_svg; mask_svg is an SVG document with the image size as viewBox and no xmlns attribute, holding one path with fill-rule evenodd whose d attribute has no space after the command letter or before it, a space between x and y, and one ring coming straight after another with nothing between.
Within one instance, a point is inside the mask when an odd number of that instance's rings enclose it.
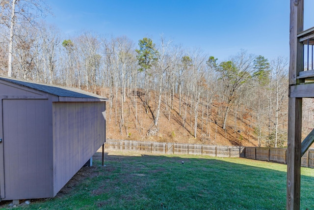
<instances>
[{"instance_id":1,"label":"orange-brown leaf-covered ground of the slope behind the fence","mask_svg":"<svg viewBox=\"0 0 314 210\"><path fill-rule=\"evenodd\" d=\"M108 90L98 90L97 92L106 96ZM236 117L233 110L229 113L227 128L224 130L222 129L221 116L221 112L224 110L223 104L214 101L211 106L211 112L208 112L207 104L201 102L198 109L197 134L195 138L193 135L194 110L189 102L184 101L185 110L183 109L180 114L178 94L174 94L170 106L169 101L167 101L168 98L163 96L160 118L156 127L154 125L154 115L157 107L155 102L156 93L150 92L149 94L150 100L146 110L143 102L143 92L138 91L137 98L126 97L126 102L123 104L123 120L120 115L122 112L122 100L119 96L121 94L116 94L117 98L112 98L111 109L110 102L107 102L107 139L224 146L257 146L257 137L254 134L254 129L250 126L252 118L244 108L240 109L241 112ZM206 117L207 113L209 113L208 117ZM185 123L183 118L186 119Z\"/></svg>"}]
</instances>

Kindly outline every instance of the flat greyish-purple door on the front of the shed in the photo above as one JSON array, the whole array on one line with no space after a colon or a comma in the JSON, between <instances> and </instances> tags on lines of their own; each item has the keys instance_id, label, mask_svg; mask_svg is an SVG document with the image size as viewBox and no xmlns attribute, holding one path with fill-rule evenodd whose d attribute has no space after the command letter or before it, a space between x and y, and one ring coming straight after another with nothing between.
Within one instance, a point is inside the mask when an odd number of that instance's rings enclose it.
<instances>
[{"instance_id":1,"label":"flat greyish-purple door on the front of the shed","mask_svg":"<svg viewBox=\"0 0 314 210\"><path fill-rule=\"evenodd\" d=\"M36 198L45 188L46 175L40 171L47 167L47 101L2 100L4 186L0 188L5 200Z\"/></svg>"}]
</instances>

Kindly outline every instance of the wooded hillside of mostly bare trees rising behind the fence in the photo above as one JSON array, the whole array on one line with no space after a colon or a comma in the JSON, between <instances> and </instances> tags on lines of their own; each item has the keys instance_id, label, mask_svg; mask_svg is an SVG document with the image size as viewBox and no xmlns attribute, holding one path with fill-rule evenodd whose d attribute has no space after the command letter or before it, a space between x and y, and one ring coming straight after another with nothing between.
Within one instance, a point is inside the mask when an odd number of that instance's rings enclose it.
<instances>
[{"instance_id":1,"label":"wooded hillside of mostly bare trees rising behind the fence","mask_svg":"<svg viewBox=\"0 0 314 210\"><path fill-rule=\"evenodd\" d=\"M0 74L108 97L108 138L287 145L286 58L241 50L220 61L163 36L138 43L86 31L64 37L35 18L24 19L31 14L19 16L27 5L17 4L11 19L9 2L1 4ZM11 20L21 23L12 26ZM306 99L304 130L312 130L313 112L313 100Z\"/></svg>"}]
</instances>

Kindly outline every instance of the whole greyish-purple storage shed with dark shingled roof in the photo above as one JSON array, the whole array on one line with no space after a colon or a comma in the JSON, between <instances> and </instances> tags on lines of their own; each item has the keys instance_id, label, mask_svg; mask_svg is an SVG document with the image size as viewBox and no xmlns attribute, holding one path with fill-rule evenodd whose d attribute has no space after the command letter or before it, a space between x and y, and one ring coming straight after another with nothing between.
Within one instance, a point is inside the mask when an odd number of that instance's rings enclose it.
<instances>
[{"instance_id":1,"label":"whole greyish-purple storage shed with dark shingled roof","mask_svg":"<svg viewBox=\"0 0 314 210\"><path fill-rule=\"evenodd\" d=\"M0 76L0 198L52 198L105 143L105 101Z\"/></svg>"}]
</instances>

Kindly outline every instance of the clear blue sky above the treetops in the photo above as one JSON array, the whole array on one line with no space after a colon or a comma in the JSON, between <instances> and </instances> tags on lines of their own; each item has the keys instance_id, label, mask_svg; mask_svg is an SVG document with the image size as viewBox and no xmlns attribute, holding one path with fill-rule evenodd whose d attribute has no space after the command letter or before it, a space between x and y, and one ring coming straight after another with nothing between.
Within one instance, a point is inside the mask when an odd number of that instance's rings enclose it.
<instances>
[{"instance_id":1,"label":"clear blue sky above the treetops","mask_svg":"<svg viewBox=\"0 0 314 210\"><path fill-rule=\"evenodd\" d=\"M47 0L64 39L82 30L126 35L137 46L160 34L184 48L200 48L218 61L241 49L268 60L289 56L290 0ZM305 0L305 29L314 26Z\"/></svg>"}]
</instances>

